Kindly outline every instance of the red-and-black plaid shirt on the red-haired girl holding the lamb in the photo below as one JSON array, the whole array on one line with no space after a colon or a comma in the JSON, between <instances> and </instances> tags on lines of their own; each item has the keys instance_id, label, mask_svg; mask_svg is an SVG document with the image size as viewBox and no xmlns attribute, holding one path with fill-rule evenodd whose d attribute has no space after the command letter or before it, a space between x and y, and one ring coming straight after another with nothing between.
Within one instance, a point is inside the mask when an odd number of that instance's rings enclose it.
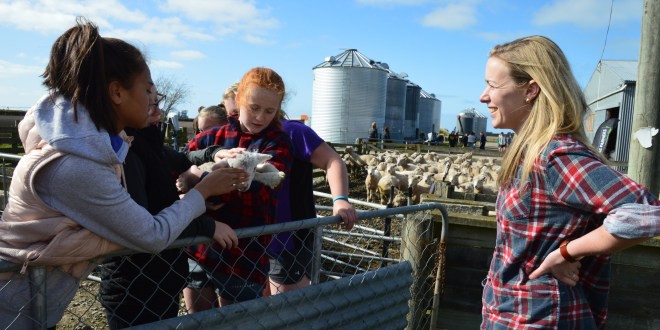
<instances>
[{"instance_id":1,"label":"red-and-black plaid shirt on the red-haired girl holding the lamb","mask_svg":"<svg viewBox=\"0 0 660 330\"><path fill-rule=\"evenodd\" d=\"M200 136L207 132L198 134L196 140L200 141ZM293 161L291 143L288 136L273 125L257 134L250 134L241 131L235 117L229 117L229 124L217 130L213 145L220 145L223 149L241 147L246 151L269 154L273 158L268 162L289 175ZM190 145L190 151L197 148L197 144ZM215 211L209 210L207 214L234 229L272 224L275 223L276 196L273 189L261 182L252 181L246 192L233 191L212 197L214 202L225 205ZM222 266L220 269L227 275L264 283L269 268L265 249L270 240L271 235L243 238L239 240L239 246L231 250L223 250L216 243L213 249L207 250L206 256L200 256L200 263L207 269Z\"/></svg>"}]
</instances>

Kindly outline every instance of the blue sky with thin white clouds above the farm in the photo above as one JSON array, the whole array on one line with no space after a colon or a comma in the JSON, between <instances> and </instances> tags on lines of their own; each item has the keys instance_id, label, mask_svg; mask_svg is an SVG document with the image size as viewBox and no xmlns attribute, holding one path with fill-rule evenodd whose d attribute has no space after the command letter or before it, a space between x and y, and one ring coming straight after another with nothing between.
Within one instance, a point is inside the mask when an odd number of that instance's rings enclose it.
<instances>
[{"instance_id":1,"label":"blue sky with thin white clouds above the farm","mask_svg":"<svg viewBox=\"0 0 660 330\"><path fill-rule=\"evenodd\" d=\"M610 6L613 5L610 20ZM152 76L185 84L194 116L254 66L285 80L291 117L311 115L313 67L355 48L442 101L441 126L475 108L489 50L540 34L566 53L584 87L602 59L637 60L643 0L0 0L0 109L27 109L45 90L53 41L85 16L132 42ZM490 120L488 123L489 130Z\"/></svg>"}]
</instances>

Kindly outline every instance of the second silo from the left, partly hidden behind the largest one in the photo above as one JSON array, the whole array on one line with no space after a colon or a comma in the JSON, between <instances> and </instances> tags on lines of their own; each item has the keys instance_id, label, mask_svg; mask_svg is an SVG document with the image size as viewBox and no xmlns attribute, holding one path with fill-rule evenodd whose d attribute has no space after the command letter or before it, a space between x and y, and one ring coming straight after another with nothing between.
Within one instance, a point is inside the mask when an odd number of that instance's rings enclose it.
<instances>
[{"instance_id":1,"label":"second silo from the left, partly hidden behind the largest one","mask_svg":"<svg viewBox=\"0 0 660 330\"><path fill-rule=\"evenodd\" d=\"M392 140L403 140L403 115L406 111L407 85L408 81L404 76L389 72L383 128L390 128Z\"/></svg>"}]
</instances>

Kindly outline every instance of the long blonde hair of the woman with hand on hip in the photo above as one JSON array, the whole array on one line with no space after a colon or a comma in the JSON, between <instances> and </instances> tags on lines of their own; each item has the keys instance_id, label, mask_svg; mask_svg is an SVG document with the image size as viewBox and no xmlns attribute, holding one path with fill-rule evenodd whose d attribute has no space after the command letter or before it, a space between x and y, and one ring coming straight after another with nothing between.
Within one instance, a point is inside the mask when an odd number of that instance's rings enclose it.
<instances>
[{"instance_id":1,"label":"long blonde hair of the woman with hand on hip","mask_svg":"<svg viewBox=\"0 0 660 330\"><path fill-rule=\"evenodd\" d=\"M520 167L522 188L539 155L557 134L570 134L595 151L582 121L587 102L557 44L542 36L524 37L495 46L490 57L506 62L517 85L534 80L540 89L538 96L530 100L529 116L504 154L499 185L511 184Z\"/></svg>"}]
</instances>

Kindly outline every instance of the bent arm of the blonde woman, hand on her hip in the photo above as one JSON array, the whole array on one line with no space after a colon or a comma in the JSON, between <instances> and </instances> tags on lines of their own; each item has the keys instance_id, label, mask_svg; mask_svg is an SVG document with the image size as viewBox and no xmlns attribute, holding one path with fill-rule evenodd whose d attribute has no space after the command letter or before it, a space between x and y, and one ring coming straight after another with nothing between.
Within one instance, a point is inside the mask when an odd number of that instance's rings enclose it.
<instances>
[{"instance_id":1,"label":"bent arm of the blonde woman, hand on her hip","mask_svg":"<svg viewBox=\"0 0 660 330\"><path fill-rule=\"evenodd\" d=\"M575 285L579 262L570 259L609 254L657 235L660 207L648 189L605 165L586 148L570 154L561 150L551 154L546 169L554 199L570 209L606 217L599 228L586 234L578 226L564 228L560 239L568 243L564 251L568 258L555 249L530 279L552 273L563 283Z\"/></svg>"}]
</instances>

